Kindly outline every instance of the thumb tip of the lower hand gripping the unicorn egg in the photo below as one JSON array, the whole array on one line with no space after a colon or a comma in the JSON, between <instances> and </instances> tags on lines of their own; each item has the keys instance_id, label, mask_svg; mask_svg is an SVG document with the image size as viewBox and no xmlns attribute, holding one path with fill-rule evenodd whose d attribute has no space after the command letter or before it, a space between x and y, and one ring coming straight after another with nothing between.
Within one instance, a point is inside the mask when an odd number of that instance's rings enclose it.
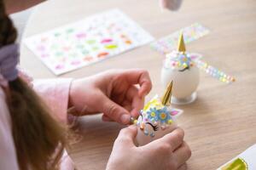
<instances>
[{"instance_id":1,"label":"thumb tip of the lower hand gripping the unicorn egg","mask_svg":"<svg viewBox=\"0 0 256 170\"><path fill-rule=\"evenodd\" d=\"M137 136L137 127L135 125L131 125L129 127L125 127L120 130L119 136L116 139L116 142L120 144L125 144L126 146L132 145L134 146L134 140Z\"/></svg>"}]
</instances>

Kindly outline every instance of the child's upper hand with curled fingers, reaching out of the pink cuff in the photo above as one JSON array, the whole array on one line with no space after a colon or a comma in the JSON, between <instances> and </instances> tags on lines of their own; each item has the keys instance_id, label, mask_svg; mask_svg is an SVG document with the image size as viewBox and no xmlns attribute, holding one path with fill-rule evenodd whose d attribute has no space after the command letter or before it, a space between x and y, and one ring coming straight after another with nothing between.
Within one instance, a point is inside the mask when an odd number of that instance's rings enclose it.
<instances>
[{"instance_id":1,"label":"child's upper hand with curled fingers, reaching out of the pink cuff","mask_svg":"<svg viewBox=\"0 0 256 170\"><path fill-rule=\"evenodd\" d=\"M105 71L74 80L69 103L79 115L103 113L105 121L127 124L131 116L138 116L138 111L143 108L144 97L151 88L148 71Z\"/></svg>"}]
</instances>

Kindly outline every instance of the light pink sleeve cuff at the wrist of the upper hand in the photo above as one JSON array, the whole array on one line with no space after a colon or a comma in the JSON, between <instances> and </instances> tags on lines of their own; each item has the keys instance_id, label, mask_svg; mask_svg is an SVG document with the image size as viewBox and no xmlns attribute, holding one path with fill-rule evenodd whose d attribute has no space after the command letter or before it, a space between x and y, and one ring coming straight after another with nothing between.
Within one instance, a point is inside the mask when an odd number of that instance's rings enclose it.
<instances>
[{"instance_id":1,"label":"light pink sleeve cuff at the wrist of the upper hand","mask_svg":"<svg viewBox=\"0 0 256 170\"><path fill-rule=\"evenodd\" d=\"M72 79L42 79L33 81L33 88L44 99L54 116L67 123L67 105Z\"/></svg>"}]
</instances>

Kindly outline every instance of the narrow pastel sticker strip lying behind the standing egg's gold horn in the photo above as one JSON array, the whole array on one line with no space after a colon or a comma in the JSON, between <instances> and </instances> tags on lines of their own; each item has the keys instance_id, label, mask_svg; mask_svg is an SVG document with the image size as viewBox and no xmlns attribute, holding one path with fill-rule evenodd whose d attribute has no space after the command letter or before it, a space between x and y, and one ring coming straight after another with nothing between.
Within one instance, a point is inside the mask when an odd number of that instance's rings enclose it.
<instances>
[{"instance_id":1,"label":"narrow pastel sticker strip lying behind the standing egg's gold horn","mask_svg":"<svg viewBox=\"0 0 256 170\"><path fill-rule=\"evenodd\" d=\"M201 26L201 24L195 23L179 31L175 31L167 37L160 38L156 42L152 42L150 46L160 52L160 54L171 53L173 49L177 48L178 37L181 32L183 32L184 42L189 43L206 36L210 31L206 27Z\"/></svg>"}]
</instances>

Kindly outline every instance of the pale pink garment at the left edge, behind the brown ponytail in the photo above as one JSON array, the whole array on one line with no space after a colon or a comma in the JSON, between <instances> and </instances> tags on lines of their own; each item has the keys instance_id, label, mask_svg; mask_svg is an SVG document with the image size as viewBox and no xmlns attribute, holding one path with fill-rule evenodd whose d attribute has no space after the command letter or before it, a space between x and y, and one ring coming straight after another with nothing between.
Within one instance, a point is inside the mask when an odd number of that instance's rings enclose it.
<instances>
[{"instance_id":1,"label":"pale pink garment at the left edge, behind the brown ponytail","mask_svg":"<svg viewBox=\"0 0 256 170\"><path fill-rule=\"evenodd\" d=\"M0 169L18 170L15 143L5 95L0 87Z\"/></svg>"}]
</instances>

